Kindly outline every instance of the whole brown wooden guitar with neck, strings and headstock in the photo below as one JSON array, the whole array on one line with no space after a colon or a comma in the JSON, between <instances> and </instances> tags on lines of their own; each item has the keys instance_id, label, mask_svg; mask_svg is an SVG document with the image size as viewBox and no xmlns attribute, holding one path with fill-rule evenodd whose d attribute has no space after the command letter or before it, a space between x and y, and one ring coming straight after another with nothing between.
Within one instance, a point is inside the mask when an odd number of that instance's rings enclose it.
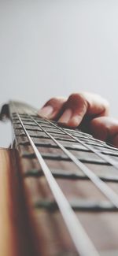
<instances>
[{"instance_id":1,"label":"whole brown wooden guitar with neck, strings and headstock","mask_svg":"<svg viewBox=\"0 0 118 256\"><path fill-rule=\"evenodd\" d=\"M0 255L118 255L118 149L24 103L3 106L6 118Z\"/></svg>"}]
</instances>

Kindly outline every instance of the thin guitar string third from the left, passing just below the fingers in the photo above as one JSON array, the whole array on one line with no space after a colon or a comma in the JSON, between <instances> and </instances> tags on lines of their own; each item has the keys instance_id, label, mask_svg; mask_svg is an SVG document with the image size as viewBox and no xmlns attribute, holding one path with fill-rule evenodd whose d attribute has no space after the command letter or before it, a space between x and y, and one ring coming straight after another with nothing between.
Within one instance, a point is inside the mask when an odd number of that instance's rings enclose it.
<instances>
[{"instance_id":1,"label":"thin guitar string third from the left, passing just below the fingers","mask_svg":"<svg viewBox=\"0 0 118 256\"><path fill-rule=\"evenodd\" d=\"M114 168L118 169L118 162L112 160L112 158L110 158L109 156L101 154L101 152L98 152L98 150L96 150L94 147L91 147L87 143L82 142L80 139L75 138L75 136L71 135L69 132L66 132L65 129L58 127L56 124L53 124L53 122L51 122L47 119L45 119L45 120L48 121L50 124L52 124L54 127L58 128L59 130L65 132L65 134L68 135L69 137L71 137L72 139L75 139L76 142L80 143L81 145L83 145L84 147L89 149L90 151L94 152L94 154L97 154L98 157L102 158L105 161L108 161L109 164L112 165Z\"/></svg>"}]
</instances>

